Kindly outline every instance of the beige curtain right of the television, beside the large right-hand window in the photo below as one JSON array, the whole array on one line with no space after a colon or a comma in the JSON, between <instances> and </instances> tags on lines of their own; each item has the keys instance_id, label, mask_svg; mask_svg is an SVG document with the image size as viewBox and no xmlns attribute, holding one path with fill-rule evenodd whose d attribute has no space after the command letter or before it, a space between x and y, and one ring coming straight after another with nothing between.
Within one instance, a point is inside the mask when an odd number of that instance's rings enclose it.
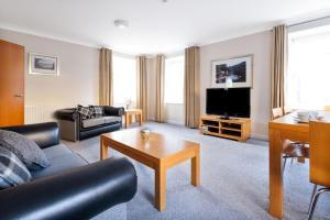
<instances>
[{"instance_id":1,"label":"beige curtain right of the television, beside the large right-hand window","mask_svg":"<svg viewBox=\"0 0 330 220\"><path fill-rule=\"evenodd\" d=\"M272 34L273 48L271 76L271 107L272 109L274 109L284 107L284 81L287 69L287 29L285 25L274 26Z\"/></svg>"}]
</instances>

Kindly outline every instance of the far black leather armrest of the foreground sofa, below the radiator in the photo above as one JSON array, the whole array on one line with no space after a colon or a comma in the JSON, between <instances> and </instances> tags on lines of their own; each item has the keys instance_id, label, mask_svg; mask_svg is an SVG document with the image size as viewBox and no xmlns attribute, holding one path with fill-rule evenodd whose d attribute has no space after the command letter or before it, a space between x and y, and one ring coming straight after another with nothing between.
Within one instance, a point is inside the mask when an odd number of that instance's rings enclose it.
<instances>
[{"instance_id":1,"label":"far black leather armrest of the foreground sofa, below the radiator","mask_svg":"<svg viewBox=\"0 0 330 220\"><path fill-rule=\"evenodd\" d=\"M41 148L59 144L59 129L56 122L6 127L1 129L20 133L34 141Z\"/></svg>"}]
</instances>

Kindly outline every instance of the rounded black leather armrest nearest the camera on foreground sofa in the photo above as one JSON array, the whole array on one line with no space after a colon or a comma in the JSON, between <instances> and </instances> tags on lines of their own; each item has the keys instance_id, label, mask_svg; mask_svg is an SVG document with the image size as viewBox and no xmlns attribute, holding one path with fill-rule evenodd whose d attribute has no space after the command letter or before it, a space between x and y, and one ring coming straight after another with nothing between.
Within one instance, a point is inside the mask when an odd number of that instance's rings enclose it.
<instances>
[{"instance_id":1,"label":"rounded black leather armrest nearest the camera on foreground sofa","mask_svg":"<svg viewBox=\"0 0 330 220\"><path fill-rule=\"evenodd\" d=\"M0 191L1 219L90 219L133 198L136 173L109 158Z\"/></svg>"}]
</instances>

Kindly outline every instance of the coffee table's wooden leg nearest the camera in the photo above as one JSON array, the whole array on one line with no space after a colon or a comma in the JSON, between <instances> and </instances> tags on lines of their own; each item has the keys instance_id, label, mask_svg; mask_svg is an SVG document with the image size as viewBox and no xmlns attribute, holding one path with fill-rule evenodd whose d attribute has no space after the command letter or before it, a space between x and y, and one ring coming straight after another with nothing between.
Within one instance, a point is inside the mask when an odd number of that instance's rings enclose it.
<instances>
[{"instance_id":1,"label":"coffee table's wooden leg nearest the camera","mask_svg":"<svg viewBox=\"0 0 330 220\"><path fill-rule=\"evenodd\" d=\"M160 211L166 208L166 168L163 163L155 169L155 206Z\"/></svg>"}]
</instances>

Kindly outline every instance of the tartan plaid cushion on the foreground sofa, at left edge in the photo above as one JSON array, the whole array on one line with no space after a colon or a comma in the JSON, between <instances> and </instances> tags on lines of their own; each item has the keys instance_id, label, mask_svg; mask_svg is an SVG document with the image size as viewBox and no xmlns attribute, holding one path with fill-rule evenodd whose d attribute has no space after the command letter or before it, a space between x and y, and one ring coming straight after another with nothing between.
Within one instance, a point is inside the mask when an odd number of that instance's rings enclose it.
<instances>
[{"instance_id":1,"label":"tartan plaid cushion on the foreground sofa, at left edge","mask_svg":"<svg viewBox=\"0 0 330 220\"><path fill-rule=\"evenodd\" d=\"M31 174L23 162L0 145L0 189L30 182Z\"/></svg>"}]
</instances>

